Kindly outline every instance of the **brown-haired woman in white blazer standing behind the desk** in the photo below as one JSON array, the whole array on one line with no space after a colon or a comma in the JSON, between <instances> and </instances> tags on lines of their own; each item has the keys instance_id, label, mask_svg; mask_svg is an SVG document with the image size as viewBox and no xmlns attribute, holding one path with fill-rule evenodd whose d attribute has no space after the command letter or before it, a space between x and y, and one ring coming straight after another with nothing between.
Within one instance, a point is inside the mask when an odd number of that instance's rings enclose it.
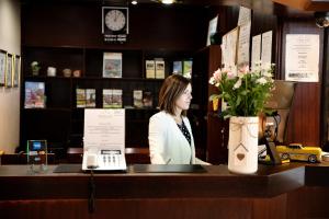
<instances>
[{"instance_id":1,"label":"brown-haired woman in white blazer standing behind the desk","mask_svg":"<svg viewBox=\"0 0 329 219\"><path fill-rule=\"evenodd\" d=\"M152 164L208 164L195 158L186 111L192 100L189 79L172 74L159 93L160 112L149 119L148 141Z\"/></svg>"}]
</instances>

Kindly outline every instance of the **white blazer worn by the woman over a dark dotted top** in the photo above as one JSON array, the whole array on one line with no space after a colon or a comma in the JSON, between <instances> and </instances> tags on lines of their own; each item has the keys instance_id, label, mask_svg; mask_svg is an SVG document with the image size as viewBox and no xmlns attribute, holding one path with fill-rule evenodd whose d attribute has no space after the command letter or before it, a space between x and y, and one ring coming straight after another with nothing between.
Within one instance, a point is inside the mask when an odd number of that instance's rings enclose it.
<instances>
[{"instance_id":1,"label":"white blazer worn by the woman over a dark dotted top","mask_svg":"<svg viewBox=\"0 0 329 219\"><path fill-rule=\"evenodd\" d=\"M208 164L195 158L194 139L190 120L183 122L191 135L191 146L173 117L161 111L152 115L148 126L148 142L152 164Z\"/></svg>"}]
</instances>

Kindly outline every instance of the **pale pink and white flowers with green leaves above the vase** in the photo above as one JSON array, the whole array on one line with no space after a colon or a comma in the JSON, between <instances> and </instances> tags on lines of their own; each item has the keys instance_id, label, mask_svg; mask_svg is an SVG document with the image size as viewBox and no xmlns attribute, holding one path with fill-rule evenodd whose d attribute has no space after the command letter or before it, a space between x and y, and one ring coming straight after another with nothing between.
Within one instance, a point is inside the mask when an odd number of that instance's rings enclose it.
<instances>
[{"instance_id":1,"label":"pale pink and white flowers with green leaves above the vase","mask_svg":"<svg viewBox=\"0 0 329 219\"><path fill-rule=\"evenodd\" d=\"M265 102L274 88L273 70L274 65L268 68L257 65L253 70L248 66L218 69L209 83L218 88L219 94L211 95L209 100L222 99L227 104L222 112L224 117L258 116L265 111Z\"/></svg>"}]
</instances>

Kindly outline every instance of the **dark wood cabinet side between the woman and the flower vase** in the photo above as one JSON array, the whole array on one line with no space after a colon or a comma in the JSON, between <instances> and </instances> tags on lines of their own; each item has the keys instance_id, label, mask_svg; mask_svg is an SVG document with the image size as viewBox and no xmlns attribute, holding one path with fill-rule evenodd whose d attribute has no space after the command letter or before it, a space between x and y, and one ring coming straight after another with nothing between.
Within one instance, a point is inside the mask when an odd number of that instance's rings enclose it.
<instances>
[{"instance_id":1,"label":"dark wood cabinet side between the woman and the flower vase","mask_svg":"<svg viewBox=\"0 0 329 219\"><path fill-rule=\"evenodd\" d=\"M206 160L213 164L227 162L227 139L228 122L219 117L218 112L213 111L212 102L208 96L218 92L215 87L208 83L214 71L220 67L222 50L219 45L211 45L200 49L194 56L194 82L193 99L200 100L202 114L203 130L201 138L203 146L206 148Z\"/></svg>"}]
</instances>

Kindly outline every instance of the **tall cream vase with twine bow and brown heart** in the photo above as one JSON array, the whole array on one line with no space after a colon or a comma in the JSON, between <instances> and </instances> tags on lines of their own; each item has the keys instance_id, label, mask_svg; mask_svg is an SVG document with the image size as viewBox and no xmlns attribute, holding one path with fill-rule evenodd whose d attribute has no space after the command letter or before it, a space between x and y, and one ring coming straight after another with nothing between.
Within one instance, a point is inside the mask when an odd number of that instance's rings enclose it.
<instances>
[{"instance_id":1,"label":"tall cream vase with twine bow and brown heart","mask_svg":"<svg viewBox=\"0 0 329 219\"><path fill-rule=\"evenodd\" d=\"M250 174L258 170L258 117L232 116L229 120L228 170Z\"/></svg>"}]
</instances>

